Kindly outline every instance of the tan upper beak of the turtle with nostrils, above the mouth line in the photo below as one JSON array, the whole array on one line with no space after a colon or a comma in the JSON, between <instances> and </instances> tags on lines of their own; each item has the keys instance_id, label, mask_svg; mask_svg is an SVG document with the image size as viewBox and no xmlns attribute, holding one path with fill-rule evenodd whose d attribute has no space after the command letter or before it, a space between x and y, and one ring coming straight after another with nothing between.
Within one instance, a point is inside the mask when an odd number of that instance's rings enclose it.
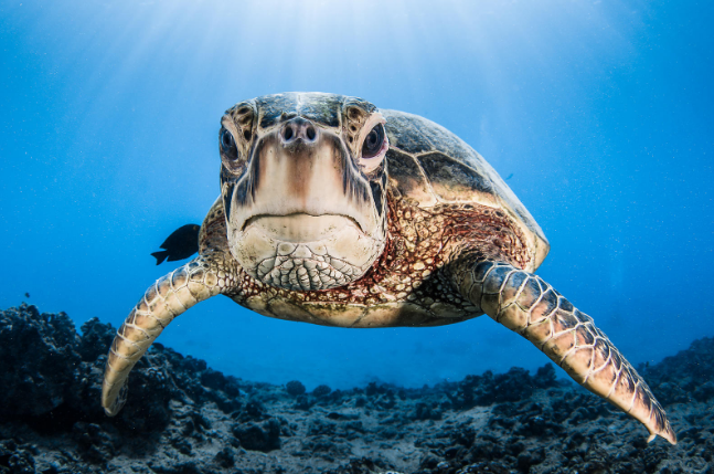
<instances>
[{"instance_id":1,"label":"tan upper beak of the turtle with nostrils, above the mouth line","mask_svg":"<svg viewBox=\"0 0 714 474\"><path fill-rule=\"evenodd\" d=\"M294 214L341 215L365 234L381 222L370 183L340 137L302 117L262 137L231 210L232 228L238 231L262 217Z\"/></svg>"}]
</instances>

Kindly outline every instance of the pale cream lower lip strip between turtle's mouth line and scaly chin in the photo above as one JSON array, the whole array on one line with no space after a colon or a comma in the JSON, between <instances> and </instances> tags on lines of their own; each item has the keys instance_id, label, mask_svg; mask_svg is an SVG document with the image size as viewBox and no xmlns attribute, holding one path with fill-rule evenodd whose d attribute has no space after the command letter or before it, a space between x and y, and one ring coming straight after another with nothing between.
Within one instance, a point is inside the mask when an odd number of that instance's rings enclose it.
<instances>
[{"instance_id":1,"label":"pale cream lower lip strip between turtle's mouth line and scaly chin","mask_svg":"<svg viewBox=\"0 0 714 474\"><path fill-rule=\"evenodd\" d=\"M310 214L307 212L292 212L289 214L257 214L248 218L242 232L251 227L263 228L270 236L279 238L286 242L311 242L329 238L344 225L352 225L364 233L360 222L345 214Z\"/></svg>"}]
</instances>

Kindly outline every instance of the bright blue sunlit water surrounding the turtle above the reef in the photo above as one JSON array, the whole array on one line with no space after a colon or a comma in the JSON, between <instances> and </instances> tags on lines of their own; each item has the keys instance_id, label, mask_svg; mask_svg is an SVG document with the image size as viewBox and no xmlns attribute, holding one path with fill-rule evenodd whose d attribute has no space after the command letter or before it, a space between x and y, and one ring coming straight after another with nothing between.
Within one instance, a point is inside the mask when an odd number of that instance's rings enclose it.
<instances>
[{"instance_id":1,"label":"bright blue sunlit water surrounding the turtle above the reef","mask_svg":"<svg viewBox=\"0 0 714 474\"><path fill-rule=\"evenodd\" d=\"M239 3L239 6L238 6ZM461 136L552 251L540 274L633 362L714 334L714 8L695 1L0 1L0 307L118 326L219 193L219 119L284 91ZM273 320L224 297L159 339L243 378L411 386L547 361L488 317Z\"/></svg>"}]
</instances>

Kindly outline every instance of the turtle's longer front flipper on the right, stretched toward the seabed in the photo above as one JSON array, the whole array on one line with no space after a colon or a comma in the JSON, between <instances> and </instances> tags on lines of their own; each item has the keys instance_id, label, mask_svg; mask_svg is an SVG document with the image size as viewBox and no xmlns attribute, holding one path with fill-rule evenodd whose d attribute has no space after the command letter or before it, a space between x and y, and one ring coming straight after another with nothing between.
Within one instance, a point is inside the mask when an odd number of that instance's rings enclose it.
<instances>
[{"instance_id":1,"label":"turtle's longer front flipper on the right, stretched toward the seabed","mask_svg":"<svg viewBox=\"0 0 714 474\"><path fill-rule=\"evenodd\" d=\"M487 315L533 343L579 385L676 444L664 410L644 380L593 319L541 277L508 263L462 259L454 283Z\"/></svg>"}]
</instances>

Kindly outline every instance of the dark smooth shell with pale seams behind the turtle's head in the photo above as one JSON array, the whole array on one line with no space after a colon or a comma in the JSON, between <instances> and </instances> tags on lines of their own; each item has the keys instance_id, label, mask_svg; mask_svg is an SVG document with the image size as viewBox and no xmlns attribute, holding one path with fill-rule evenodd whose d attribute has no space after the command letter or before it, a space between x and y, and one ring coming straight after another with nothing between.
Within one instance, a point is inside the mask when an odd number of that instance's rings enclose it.
<instances>
[{"instance_id":1,"label":"dark smooth shell with pale seams behind the turtle's head","mask_svg":"<svg viewBox=\"0 0 714 474\"><path fill-rule=\"evenodd\" d=\"M525 236L533 272L550 244L535 219L481 155L451 131L418 115L380 110L386 118L392 186L422 208L476 203L503 210Z\"/></svg>"}]
</instances>

